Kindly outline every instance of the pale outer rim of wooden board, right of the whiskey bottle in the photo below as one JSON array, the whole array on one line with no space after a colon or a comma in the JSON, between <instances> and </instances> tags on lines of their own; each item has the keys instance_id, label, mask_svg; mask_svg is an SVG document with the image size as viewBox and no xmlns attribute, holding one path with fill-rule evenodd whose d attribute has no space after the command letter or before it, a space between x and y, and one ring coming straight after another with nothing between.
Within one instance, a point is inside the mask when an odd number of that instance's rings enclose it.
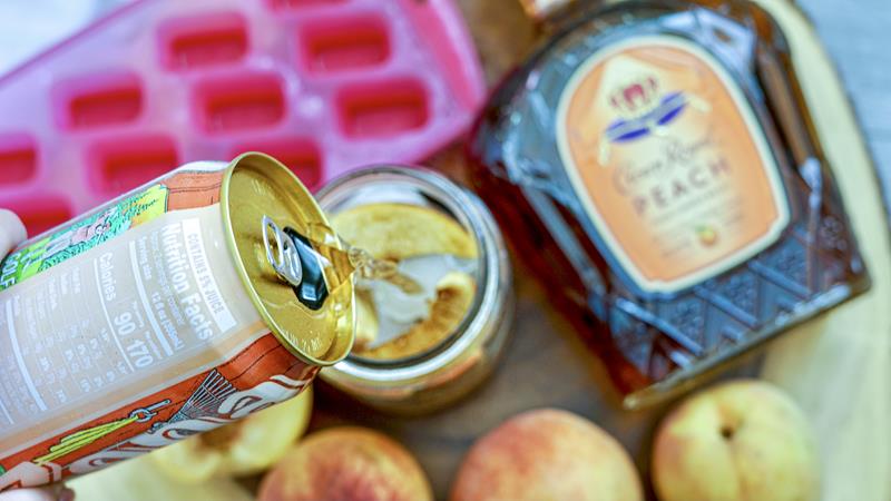
<instances>
[{"instance_id":1,"label":"pale outer rim of wooden board, right of the whiskey bottle","mask_svg":"<svg viewBox=\"0 0 891 501\"><path fill-rule=\"evenodd\" d=\"M762 0L794 62L872 275L872 289L777 340L764 379L805 409L822 449L824 499L891 500L891 250L879 184L833 66L790 3ZM863 12L869 16L869 12Z\"/></svg>"}]
</instances>

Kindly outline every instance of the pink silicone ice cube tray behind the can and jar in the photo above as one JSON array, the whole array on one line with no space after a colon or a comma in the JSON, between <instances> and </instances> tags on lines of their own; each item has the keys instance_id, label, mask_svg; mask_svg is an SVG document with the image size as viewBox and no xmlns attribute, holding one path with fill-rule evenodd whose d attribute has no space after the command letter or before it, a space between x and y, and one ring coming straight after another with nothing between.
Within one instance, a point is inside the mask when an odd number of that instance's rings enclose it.
<instances>
[{"instance_id":1,"label":"pink silicone ice cube tray behind the can and jar","mask_svg":"<svg viewBox=\"0 0 891 501\"><path fill-rule=\"evenodd\" d=\"M245 150L317 187L423 159L483 98L450 0L141 0L0 79L0 206L33 235Z\"/></svg>"}]
</instances>

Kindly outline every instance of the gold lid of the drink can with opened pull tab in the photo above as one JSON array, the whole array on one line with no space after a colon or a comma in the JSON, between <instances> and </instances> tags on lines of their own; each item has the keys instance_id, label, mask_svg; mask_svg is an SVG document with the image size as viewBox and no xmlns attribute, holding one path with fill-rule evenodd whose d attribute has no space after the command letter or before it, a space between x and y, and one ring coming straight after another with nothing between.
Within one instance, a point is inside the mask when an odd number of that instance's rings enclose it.
<instances>
[{"instance_id":1,"label":"gold lid of the drink can with opened pull tab","mask_svg":"<svg viewBox=\"0 0 891 501\"><path fill-rule=\"evenodd\" d=\"M293 235L310 235L315 226L329 227L306 187L274 158L246 153L233 160L224 175L221 205L234 264L270 331L307 363L325 366L345 357L354 327L351 271L323 266L326 296L320 305L307 306L276 272L267 257L268 242L264 244L268 220ZM340 244L329 245L332 247L312 247L320 263L337 262L329 254L341 250Z\"/></svg>"}]
</instances>

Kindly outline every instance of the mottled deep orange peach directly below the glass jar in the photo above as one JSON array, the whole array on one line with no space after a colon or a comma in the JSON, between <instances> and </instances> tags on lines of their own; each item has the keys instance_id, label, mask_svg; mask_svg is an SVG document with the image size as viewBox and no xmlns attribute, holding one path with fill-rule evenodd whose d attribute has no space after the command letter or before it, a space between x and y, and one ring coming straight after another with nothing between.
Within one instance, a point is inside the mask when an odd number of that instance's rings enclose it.
<instances>
[{"instance_id":1,"label":"mottled deep orange peach directly below the glass jar","mask_svg":"<svg viewBox=\"0 0 891 501\"><path fill-rule=\"evenodd\" d=\"M423 470L402 445L362 428L309 435L263 479L258 501L425 501Z\"/></svg>"}]
</instances>

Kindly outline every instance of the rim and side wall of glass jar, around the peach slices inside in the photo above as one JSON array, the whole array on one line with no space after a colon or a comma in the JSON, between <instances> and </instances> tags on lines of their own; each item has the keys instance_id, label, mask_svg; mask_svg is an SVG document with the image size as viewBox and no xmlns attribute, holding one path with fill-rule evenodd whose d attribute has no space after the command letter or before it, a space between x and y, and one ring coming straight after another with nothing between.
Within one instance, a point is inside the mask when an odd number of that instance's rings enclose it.
<instances>
[{"instance_id":1,"label":"rim and side wall of glass jar, around the peach slices inside","mask_svg":"<svg viewBox=\"0 0 891 501\"><path fill-rule=\"evenodd\" d=\"M483 203L439 174L398 166L372 167L335 179L317 199L332 217L370 204L433 209L463 227L477 246L476 292L453 332L433 347L400 358L371 358L353 351L322 371L321 377L368 405L399 414L442 409L478 386L503 350L515 310L510 259Z\"/></svg>"}]
</instances>

